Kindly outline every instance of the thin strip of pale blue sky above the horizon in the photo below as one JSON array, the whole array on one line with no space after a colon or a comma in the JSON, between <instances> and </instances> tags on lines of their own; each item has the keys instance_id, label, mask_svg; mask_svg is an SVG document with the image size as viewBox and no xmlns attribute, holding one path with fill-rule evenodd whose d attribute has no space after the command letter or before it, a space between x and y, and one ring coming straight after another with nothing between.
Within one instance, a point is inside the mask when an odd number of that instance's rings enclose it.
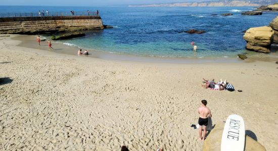
<instances>
[{"instance_id":1,"label":"thin strip of pale blue sky above the horizon","mask_svg":"<svg viewBox=\"0 0 278 151\"><path fill-rule=\"evenodd\" d=\"M9 6L111 6L135 4L160 4L180 2L201 2L215 0L0 0L0 5Z\"/></svg>"}]
</instances>

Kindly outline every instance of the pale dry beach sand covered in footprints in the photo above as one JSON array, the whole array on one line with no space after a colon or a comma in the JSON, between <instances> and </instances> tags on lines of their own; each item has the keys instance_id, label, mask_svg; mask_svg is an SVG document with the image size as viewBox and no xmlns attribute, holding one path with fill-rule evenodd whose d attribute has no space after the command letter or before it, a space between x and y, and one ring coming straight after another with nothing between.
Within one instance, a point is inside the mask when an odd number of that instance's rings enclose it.
<instances>
[{"instance_id":1,"label":"pale dry beach sand covered in footprints","mask_svg":"<svg viewBox=\"0 0 278 151\"><path fill-rule=\"evenodd\" d=\"M278 149L273 59L122 61L20 47L12 37L0 37L1 150L201 150L190 126L203 99L213 123L239 114L251 137ZM243 92L204 89L202 78L227 79Z\"/></svg>"}]
</instances>

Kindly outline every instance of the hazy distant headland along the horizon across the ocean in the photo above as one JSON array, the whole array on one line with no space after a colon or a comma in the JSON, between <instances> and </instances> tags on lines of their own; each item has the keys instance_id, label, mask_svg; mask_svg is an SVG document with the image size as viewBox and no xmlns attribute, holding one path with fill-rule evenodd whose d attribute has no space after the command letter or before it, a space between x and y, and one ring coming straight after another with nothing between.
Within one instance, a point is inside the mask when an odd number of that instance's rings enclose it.
<instances>
[{"instance_id":1,"label":"hazy distant headland along the horizon across the ocean","mask_svg":"<svg viewBox=\"0 0 278 151\"><path fill-rule=\"evenodd\" d=\"M150 5L130 5L129 7L257 7L274 4L275 0L220 0L206 2L165 3Z\"/></svg>"}]
</instances>

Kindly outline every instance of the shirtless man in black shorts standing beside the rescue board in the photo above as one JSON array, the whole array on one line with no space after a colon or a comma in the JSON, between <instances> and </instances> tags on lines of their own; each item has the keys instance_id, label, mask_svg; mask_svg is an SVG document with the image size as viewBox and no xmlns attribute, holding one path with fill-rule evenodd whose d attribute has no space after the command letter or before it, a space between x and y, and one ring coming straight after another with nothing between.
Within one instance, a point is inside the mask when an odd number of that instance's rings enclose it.
<instances>
[{"instance_id":1,"label":"shirtless man in black shorts standing beside the rescue board","mask_svg":"<svg viewBox=\"0 0 278 151\"><path fill-rule=\"evenodd\" d=\"M198 109L198 113L200 114L198 124L200 125L199 128L199 139L205 140L207 134L207 125L208 125L208 116L211 117L210 109L207 108L207 101L202 100L202 107ZM204 127L204 136L202 137L202 128Z\"/></svg>"}]
</instances>

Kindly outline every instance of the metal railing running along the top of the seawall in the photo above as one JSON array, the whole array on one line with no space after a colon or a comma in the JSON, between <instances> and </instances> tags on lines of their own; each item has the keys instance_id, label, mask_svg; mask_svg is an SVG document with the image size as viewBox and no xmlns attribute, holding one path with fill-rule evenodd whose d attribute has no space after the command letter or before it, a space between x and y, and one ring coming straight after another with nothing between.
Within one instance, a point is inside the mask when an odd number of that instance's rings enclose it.
<instances>
[{"instance_id":1,"label":"metal railing running along the top of the seawall","mask_svg":"<svg viewBox=\"0 0 278 151\"><path fill-rule=\"evenodd\" d=\"M7 17L52 17L52 16L99 16L97 12L49 12L49 13L0 13L0 18Z\"/></svg>"}]
</instances>

